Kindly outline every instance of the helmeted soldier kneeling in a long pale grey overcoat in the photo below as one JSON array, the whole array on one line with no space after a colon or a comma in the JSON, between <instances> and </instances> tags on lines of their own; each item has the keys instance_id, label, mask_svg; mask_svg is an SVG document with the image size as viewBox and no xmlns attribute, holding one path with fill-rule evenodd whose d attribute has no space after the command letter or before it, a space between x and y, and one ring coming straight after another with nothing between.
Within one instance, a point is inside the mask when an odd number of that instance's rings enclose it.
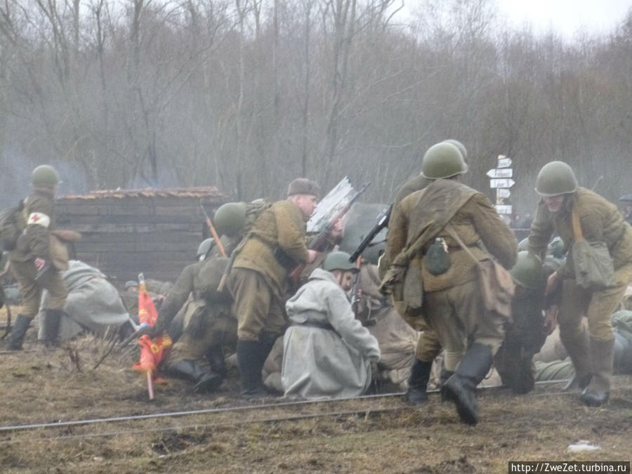
<instances>
[{"instance_id":1,"label":"helmeted soldier kneeling in a long pale grey overcoat","mask_svg":"<svg viewBox=\"0 0 632 474\"><path fill-rule=\"evenodd\" d=\"M346 292L357 268L346 252L331 252L285 308L281 380L287 397L355 397L371 383L378 341L355 319Z\"/></svg>"}]
</instances>

